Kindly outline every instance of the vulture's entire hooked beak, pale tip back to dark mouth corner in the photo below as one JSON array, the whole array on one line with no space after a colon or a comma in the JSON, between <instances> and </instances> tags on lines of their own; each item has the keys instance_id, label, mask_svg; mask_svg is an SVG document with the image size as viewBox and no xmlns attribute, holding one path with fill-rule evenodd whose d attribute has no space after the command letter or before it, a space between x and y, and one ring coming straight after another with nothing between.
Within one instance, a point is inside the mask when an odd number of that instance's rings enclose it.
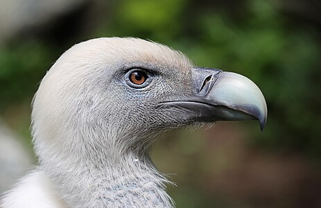
<instances>
[{"instance_id":1,"label":"vulture's entire hooked beak, pale tip back to dark mouth corner","mask_svg":"<svg viewBox=\"0 0 321 208\"><path fill-rule=\"evenodd\" d=\"M261 131L266 125L266 100L252 80L238 73L220 69L192 69L194 94L180 101L163 103L187 121L259 120ZM182 116L184 113L184 116Z\"/></svg>"}]
</instances>

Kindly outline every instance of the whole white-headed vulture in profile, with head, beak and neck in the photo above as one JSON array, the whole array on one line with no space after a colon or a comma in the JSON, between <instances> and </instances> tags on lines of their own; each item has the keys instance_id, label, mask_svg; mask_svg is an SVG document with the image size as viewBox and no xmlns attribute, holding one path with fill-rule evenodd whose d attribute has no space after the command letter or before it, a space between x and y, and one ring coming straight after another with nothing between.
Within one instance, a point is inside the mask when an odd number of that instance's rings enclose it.
<instances>
[{"instance_id":1,"label":"whole white-headed vulture in profile, with head, beak and neck","mask_svg":"<svg viewBox=\"0 0 321 208\"><path fill-rule=\"evenodd\" d=\"M196 67L179 51L133 37L102 37L64 52L33 98L39 166L3 208L174 207L148 147L170 132L257 119L267 107L250 79Z\"/></svg>"}]
</instances>

